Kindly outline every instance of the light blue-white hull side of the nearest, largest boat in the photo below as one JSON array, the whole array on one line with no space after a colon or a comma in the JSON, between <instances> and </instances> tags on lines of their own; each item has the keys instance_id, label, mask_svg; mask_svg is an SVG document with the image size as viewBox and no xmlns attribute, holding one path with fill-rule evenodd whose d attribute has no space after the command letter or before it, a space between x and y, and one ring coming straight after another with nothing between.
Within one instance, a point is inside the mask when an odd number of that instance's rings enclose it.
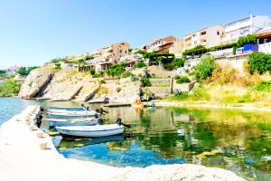
<instances>
[{"instance_id":1,"label":"light blue-white hull side of the nearest, largest boat","mask_svg":"<svg viewBox=\"0 0 271 181\"><path fill-rule=\"evenodd\" d=\"M94 126L95 127L95 126ZM123 127L117 129L107 129L107 130L72 130L72 129L61 129L61 127L56 128L59 133L64 137L107 137L112 135L119 135L124 132Z\"/></svg>"}]
</instances>

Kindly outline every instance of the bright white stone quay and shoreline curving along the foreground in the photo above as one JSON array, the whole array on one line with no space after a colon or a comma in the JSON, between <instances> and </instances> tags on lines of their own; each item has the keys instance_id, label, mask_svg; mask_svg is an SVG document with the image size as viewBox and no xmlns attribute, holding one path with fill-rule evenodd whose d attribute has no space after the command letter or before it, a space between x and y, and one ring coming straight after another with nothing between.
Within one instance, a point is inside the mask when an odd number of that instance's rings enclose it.
<instances>
[{"instance_id":1,"label":"bright white stone quay and shoreline curving along the foreground","mask_svg":"<svg viewBox=\"0 0 271 181\"><path fill-rule=\"evenodd\" d=\"M0 128L0 179L9 180L230 180L243 181L229 170L192 164L151 167L109 167L90 161L66 159L54 148L51 138L37 138L25 115L34 107L6 121ZM39 148L41 142L47 149Z\"/></svg>"}]
</instances>

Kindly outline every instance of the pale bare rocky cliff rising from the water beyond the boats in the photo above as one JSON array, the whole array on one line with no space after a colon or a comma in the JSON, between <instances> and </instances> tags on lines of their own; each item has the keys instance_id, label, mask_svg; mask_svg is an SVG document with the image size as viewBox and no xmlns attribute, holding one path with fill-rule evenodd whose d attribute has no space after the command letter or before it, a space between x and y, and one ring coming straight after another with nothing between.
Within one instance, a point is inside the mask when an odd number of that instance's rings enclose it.
<instances>
[{"instance_id":1,"label":"pale bare rocky cliff rising from the water beyond the boats","mask_svg":"<svg viewBox=\"0 0 271 181\"><path fill-rule=\"evenodd\" d=\"M19 96L24 99L79 101L92 98L101 100L107 96L113 102L133 102L139 92L139 82L130 79L111 79L101 84L100 79L93 79L88 73L55 71L43 67L27 76Z\"/></svg>"}]
</instances>

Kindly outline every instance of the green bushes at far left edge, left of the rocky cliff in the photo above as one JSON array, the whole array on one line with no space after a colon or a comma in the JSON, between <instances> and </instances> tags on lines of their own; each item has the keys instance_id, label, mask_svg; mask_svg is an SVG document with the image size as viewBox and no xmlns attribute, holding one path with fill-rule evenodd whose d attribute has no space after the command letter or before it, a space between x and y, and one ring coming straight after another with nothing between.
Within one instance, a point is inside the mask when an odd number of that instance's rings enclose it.
<instances>
[{"instance_id":1,"label":"green bushes at far left edge, left of the rocky cliff","mask_svg":"<svg viewBox=\"0 0 271 181\"><path fill-rule=\"evenodd\" d=\"M5 82L0 83L0 96L11 96L19 93L21 84L13 81L13 79L7 79Z\"/></svg>"}]
</instances>

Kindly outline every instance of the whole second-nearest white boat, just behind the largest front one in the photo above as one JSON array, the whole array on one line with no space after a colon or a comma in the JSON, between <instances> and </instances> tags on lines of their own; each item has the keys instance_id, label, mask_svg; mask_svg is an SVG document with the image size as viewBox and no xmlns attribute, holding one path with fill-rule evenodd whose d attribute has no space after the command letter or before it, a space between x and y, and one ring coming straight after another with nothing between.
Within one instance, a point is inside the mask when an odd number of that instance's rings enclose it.
<instances>
[{"instance_id":1,"label":"whole second-nearest white boat, just behind the largest front one","mask_svg":"<svg viewBox=\"0 0 271 181\"><path fill-rule=\"evenodd\" d=\"M50 127L93 126L98 119L47 119L46 122Z\"/></svg>"}]
</instances>

